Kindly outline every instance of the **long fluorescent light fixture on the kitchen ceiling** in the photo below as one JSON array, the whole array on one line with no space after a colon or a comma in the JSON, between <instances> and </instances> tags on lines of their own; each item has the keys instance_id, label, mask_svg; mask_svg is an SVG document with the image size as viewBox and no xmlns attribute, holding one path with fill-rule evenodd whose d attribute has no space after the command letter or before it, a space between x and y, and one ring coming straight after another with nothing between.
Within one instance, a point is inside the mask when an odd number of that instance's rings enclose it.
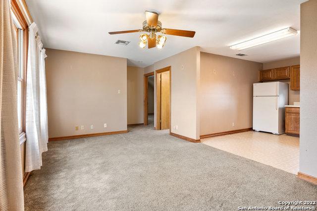
<instances>
[{"instance_id":1,"label":"long fluorescent light fixture on the kitchen ceiling","mask_svg":"<svg viewBox=\"0 0 317 211\"><path fill-rule=\"evenodd\" d=\"M270 34L254 38L252 40L248 40L248 41L233 45L230 47L230 49L233 49L233 50L248 49L248 48L251 48L254 46L259 46L259 45L262 45L264 43L269 43L269 42L279 40L282 38L286 38L286 37L290 37L293 35L297 35L297 31L295 29L292 29L292 28L286 28L286 29L279 30L277 32L272 32Z\"/></svg>"}]
</instances>

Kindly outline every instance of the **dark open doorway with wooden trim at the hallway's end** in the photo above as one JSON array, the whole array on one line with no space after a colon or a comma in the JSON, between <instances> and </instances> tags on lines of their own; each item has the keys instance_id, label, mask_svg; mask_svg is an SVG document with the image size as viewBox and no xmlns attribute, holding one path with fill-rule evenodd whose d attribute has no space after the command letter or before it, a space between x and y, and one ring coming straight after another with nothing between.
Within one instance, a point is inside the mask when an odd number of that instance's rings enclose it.
<instances>
[{"instance_id":1,"label":"dark open doorway with wooden trim at the hallway's end","mask_svg":"<svg viewBox=\"0 0 317 211\"><path fill-rule=\"evenodd\" d=\"M154 126L154 72L144 74L144 125L149 123Z\"/></svg>"}]
</instances>

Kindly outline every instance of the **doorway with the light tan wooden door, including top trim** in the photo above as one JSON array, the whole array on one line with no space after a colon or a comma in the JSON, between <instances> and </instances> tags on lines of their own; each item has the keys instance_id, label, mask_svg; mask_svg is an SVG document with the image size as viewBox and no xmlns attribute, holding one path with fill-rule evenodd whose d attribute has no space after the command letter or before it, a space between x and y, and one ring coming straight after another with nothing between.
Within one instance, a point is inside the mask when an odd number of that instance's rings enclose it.
<instances>
[{"instance_id":1,"label":"doorway with the light tan wooden door, including top trim","mask_svg":"<svg viewBox=\"0 0 317 211\"><path fill-rule=\"evenodd\" d=\"M156 130L170 130L170 97L171 71L170 66L156 72L157 114Z\"/></svg>"}]
</instances>

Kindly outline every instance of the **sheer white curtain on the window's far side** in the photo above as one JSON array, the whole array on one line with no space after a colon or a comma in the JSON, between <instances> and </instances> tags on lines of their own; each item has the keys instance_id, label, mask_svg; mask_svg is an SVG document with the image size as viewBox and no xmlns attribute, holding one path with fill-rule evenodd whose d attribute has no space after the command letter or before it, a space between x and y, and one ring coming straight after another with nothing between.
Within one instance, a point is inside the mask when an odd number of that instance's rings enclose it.
<instances>
[{"instance_id":1,"label":"sheer white curtain on the window's far side","mask_svg":"<svg viewBox=\"0 0 317 211\"><path fill-rule=\"evenodd\" d=\"M26 77L26 152L25 171L40 169L42 153L48 150L48 120L45 80L45 50L38 27L29 27L28 67Z\"/></svg>"}]
</instances>

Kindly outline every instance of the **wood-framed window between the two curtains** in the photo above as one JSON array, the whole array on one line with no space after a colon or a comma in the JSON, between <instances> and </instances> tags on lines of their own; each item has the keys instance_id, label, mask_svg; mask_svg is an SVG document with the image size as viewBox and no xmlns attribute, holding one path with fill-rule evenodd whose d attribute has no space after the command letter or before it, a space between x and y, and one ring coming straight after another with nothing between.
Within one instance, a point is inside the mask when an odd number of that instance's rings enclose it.
<instances>
[{"instance_id":1,"label":"wood-framed window between the two curtains","mask_svg":"<svg viewBox=\"0 0 317 211\"><path fill-rule=\"evenodd\" d=\"M11 0L12 19L15 26L15 37L18 54L18 76L17 76L17 110L18 126L20 132L20 144L26 140L25 137L25 110L26 110L26 68L28 48L28 24L18 7L16 0Z\"/></svg>"}]
</instances>

